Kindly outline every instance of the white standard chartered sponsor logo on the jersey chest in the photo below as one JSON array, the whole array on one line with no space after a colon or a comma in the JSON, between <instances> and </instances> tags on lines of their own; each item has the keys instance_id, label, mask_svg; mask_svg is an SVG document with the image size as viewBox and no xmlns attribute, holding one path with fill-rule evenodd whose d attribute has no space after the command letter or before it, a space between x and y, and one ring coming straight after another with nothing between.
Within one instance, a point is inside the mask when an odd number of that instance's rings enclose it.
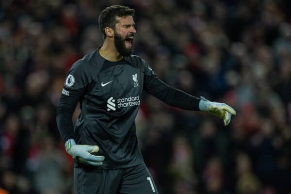
<instances>
[{"instance_id":1,"label":"white standard chartered sponsor logo on the jersey chest","mask_svg":"<svg viewBox=\"0 0 291 194\"><path fill-rule=\"evenodd\" d=\"M139 100L139 96L118 98L117 100L115 100L113 97L110 97L107 100L107 111L116 111L116 106L117 108L121 109L125 107L138 106L140 104L141 102Z\"/></svg>"}]
</instances>

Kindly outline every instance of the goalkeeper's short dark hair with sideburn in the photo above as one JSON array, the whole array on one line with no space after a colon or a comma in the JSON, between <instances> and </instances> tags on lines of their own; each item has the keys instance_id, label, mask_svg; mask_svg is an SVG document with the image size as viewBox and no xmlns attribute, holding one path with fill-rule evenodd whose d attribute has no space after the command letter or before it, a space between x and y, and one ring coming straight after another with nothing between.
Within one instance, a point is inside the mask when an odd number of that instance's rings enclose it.
<instances>
[{"instance_id":1,"label":"goalkeeper's short dark hair with sideburn","mask_svg":"<svg viewBox=\"0 0 291 194\"><path fill-rule=\"evenodd\" d=\"M115 30L115 24L117 23L116 16L133 16L134 9L130 9L126 6L113 5L106 7L100 14L98 23L99 29L102 33L103 40L106 38L105 28L110 27Z\"/></svg>"}]
</instances>

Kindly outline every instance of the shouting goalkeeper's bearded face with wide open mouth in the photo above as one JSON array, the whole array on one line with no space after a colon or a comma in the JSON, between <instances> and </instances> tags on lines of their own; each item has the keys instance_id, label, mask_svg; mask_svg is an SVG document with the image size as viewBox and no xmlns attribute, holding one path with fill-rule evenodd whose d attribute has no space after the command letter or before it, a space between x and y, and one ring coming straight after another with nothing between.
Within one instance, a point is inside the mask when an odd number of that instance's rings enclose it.
<instances>
[{"instance_id":1,"label":"shouting goalkeeper's bearded face with wide open mouth","mask_svg":"<svg viewBox=\"0 0 291 194\"><path fill-rule=\"evenodd\" d=\"M114 46L123 56L129 56L133 50L133 37L136 30L132 16L116 17L118 23L114 30Z\"/></svg>"}]
</instances>

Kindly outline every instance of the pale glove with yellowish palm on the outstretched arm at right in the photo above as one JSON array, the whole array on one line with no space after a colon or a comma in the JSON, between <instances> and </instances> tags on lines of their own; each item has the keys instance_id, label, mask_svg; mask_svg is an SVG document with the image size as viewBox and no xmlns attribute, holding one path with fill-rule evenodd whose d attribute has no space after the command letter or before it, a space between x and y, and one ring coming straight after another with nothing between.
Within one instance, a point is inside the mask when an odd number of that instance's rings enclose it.
<instances>
[{"instance_id":1,"label":"pale glove with yellowish palm on the outstretched arm at right","mask_svg":"<svg viewBox=\"0 0 291 194\"><path fill-rule=\"evenodd\" d=\"M230 123L231 115L236 115L235 110L225 103L211 102L205 97L200 98L199 109L222 118L225 126Z\"/></svg>"}]
</instances>

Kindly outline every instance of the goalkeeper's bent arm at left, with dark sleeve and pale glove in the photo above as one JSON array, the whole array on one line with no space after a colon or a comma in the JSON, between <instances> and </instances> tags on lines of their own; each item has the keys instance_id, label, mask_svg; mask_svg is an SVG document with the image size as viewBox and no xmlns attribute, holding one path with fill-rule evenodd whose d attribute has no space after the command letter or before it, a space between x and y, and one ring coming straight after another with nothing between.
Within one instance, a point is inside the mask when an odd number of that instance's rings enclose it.
<instances>
[{"instance_id":1,"label":"goalkeeper's bent arm at left, with dark sleeve and pale glove","mask_svg":"<svg viewBox=\"0 0 291 194\"><path fill-rule=\"evenodd\" d=\"M65 149L78 162L90 165L102 165L104 156L95 156L90 153L98 152L98 146L76 145L72 115L77 103L81 100L88 84L87 75L81 69L81 64L74 64L65 80L62 96L57 109L57 126Z\"/></svg>"}]
</instances>

